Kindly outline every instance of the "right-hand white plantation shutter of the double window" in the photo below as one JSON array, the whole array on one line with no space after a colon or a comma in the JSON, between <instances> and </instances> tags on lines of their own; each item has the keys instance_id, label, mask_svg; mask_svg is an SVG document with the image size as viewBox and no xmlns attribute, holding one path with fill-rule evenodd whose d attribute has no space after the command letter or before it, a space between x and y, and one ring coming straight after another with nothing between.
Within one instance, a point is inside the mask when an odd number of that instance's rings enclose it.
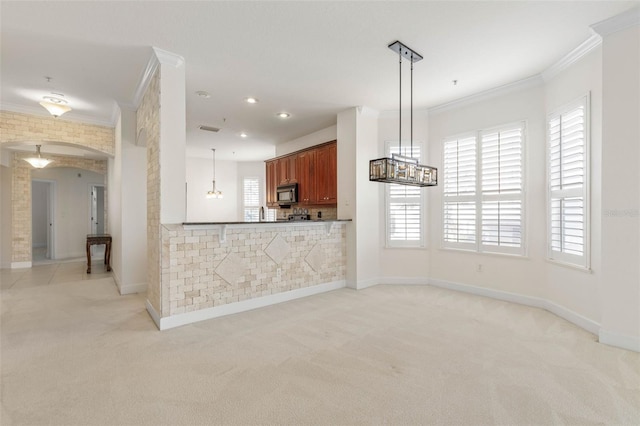
<instances>
[{"instance_id":1,"label":"right-hand white plantation shutter of the double window","mask_svg":"<svg viewBox=\"0 0 640 426\"><path fill-rule=\"evenodd\" d=\"M523 130L518 124L481 132L481 242L485 251L517 253L523 247Z\"/></svg>"}]
</instances>

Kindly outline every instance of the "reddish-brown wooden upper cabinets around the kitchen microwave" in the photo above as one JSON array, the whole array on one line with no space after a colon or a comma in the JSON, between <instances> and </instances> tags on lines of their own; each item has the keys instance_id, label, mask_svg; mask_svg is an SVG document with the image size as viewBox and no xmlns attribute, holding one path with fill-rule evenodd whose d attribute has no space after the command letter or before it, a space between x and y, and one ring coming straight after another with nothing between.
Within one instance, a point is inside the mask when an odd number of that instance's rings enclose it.
<instances>
[{"instance_id":1,"label":"reddish-brown wooden upper cabinets around the kitchen microwave","mask_svg":"<svg viewBox=\"0 0 640 426\"><path fill-rule=\"evenodd\" d=\"M337 205L336 141L266 161L267 206L278 207L278 185L298 183L298 205Z\"/></svg>"}]
</instances>

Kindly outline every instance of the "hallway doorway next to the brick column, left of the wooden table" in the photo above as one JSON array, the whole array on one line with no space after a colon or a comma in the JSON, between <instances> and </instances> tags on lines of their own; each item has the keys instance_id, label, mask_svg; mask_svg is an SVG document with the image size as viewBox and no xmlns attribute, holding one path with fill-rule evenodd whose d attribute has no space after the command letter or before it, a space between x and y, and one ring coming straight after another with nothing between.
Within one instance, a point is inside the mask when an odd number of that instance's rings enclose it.
<instances>
[{"instance_id":1,"label":"hallway doorway next to the brick column, left of the wooden table","mask_svg":"<svg viewBox=\"0 0 640 426\"><path fill-rule=\"evenodd\" d=\"M33 262L53 260L55 256L54 203L56 182L31 181L31 247Z\"/></svg>"}]
</instances>

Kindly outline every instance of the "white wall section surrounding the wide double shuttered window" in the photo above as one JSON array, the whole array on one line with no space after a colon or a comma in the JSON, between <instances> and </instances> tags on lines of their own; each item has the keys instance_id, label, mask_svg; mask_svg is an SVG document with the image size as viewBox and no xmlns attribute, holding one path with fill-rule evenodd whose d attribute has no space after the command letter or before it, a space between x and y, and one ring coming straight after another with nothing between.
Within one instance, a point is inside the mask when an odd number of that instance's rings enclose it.
<instances>
[{"instance_id":1,"label":"white wall section surrounding the wide double shuttered window","mask_svg":"<svg viewBox=\"0 0 640 426\"><path fill-rule=\"evenodd\" d=\"M544 292L545 122L541 81L471 105L445 110L429 120L428 164L439 184L428 188L431 279L541 296ZM442 249L442 141L449 136L526 120L526 257ZM482 272L477 272L477 265Z\"/></svg>"}]
</instances>

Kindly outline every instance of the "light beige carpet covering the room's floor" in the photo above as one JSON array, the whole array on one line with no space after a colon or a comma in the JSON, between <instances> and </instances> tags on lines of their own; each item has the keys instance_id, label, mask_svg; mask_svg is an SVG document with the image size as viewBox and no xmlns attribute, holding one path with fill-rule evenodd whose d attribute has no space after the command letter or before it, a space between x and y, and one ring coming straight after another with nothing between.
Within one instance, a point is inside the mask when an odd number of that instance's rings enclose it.
<instances>
[{"instance_id":1,"label":"light beige carpet covering the room's floor","mask_svg":"<svg viewBox=\"0 0 640 426\"><path fill-rule=\"evenodd\" d=\"M2 425L638 424L640 354L422 286L164 332L111 278L2 292Z\"/></svg>"}]
</instances>

